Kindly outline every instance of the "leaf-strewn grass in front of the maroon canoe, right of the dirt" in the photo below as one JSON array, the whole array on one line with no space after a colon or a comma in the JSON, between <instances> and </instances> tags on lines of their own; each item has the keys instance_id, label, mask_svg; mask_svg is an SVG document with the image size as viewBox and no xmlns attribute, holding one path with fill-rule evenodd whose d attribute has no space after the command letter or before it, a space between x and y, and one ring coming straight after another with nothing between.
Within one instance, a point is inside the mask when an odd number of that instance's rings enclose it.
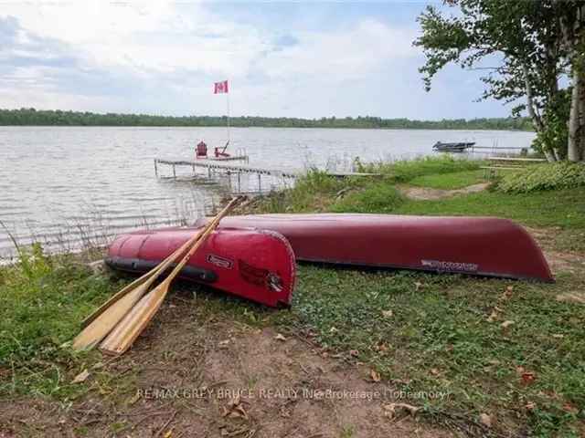
<instances>
[{"instance_id":1,"label":"leaf-strewn grass in front of the maroon canoe, right of the dirt","mask_svg":"<svg viewBox=\"0 0 585 438\"><path fill-rule=\"evenodd\" d=\"M539 436L570 436L578 415L567 406L585 405L585 307L554 296L582 287L582 278L570 276L550 286L303 266L293 314L275 318L293 330L310 328L324 347L357 350L358 360L399 389L449 392L410 401L427 412L472 419L488 412L508 422L504 429L526 422ZM515 323L502 328L505 320ZM518 367L536 380L525 384ZM526 409L528 402L536 408Z\"/></svg>"}]
</instances>

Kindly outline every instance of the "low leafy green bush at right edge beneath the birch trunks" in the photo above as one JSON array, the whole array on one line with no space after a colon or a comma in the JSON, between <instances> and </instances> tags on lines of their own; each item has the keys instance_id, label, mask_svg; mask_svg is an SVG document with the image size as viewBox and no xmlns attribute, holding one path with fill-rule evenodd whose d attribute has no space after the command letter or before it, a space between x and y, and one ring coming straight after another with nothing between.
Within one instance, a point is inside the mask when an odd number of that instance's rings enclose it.
<instances>
[{"instance_id":1,"label":"low leafy green bush at right edge beneath the birch trunks","mask_svg":"<svg viewBox=\"0 0 585 438\"><path fill-rule=\"evenodd\" d=\"M585 165L555 162L527 167L505 175L496 190L504 193L530 193L569 189L585 185Z\"/></svg>"}]
</instances>

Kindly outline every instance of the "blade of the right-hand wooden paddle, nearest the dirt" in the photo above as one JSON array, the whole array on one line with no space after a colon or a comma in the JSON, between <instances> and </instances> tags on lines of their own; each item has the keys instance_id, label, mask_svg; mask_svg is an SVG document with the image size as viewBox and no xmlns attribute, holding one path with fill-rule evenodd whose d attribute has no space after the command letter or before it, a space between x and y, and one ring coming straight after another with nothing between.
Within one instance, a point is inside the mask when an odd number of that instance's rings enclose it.
<instances>
[{"instance_id":1,"label":"blade of the right-hand wooden paddle, nearest the dirt","mask_svg":"<svg viewBox=\"0 0 585 438\"><path fill-rule=\"evenodd\" d=\"M133 344L161 307L170 282L164 281L154 287L130 310L112 332L101 342L100 349L104 353L122 354Z\"/></svg>"}]
</instances>

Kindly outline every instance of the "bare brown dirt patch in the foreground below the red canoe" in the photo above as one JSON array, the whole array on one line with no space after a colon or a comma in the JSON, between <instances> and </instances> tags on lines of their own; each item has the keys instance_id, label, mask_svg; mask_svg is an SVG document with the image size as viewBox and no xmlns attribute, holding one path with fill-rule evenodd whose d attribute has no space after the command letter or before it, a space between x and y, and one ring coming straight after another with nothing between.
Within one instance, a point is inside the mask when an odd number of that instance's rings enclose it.
<instances>
[{"instance_id":1,"label":"bare brown dirt patch in the foreground below the red canoe","mask_svg":"<svg viewBox=\"0 0 585 438\"><path fill-rule=\"evenodd\" d=\"M81 400L0 401L0 437L452 436L391 416L392 401L423 401L397 398L353 358L202 308L174 295L129 354L90 370Z\"/></svg>"}]
</instances>

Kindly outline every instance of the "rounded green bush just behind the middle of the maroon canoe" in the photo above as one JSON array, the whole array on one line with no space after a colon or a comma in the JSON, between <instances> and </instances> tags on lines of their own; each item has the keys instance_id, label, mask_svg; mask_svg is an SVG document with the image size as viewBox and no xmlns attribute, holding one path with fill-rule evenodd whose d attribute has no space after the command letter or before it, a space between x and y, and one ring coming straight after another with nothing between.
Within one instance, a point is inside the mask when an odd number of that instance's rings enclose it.
<instances>
[{"instance_id":1,"label":"rounded green bush just behind the middle of the maroon canoe","mask_svg":"<svg viewBox=\"0 0 585 438\"><path fill-rule=\"evenodd\" d=\"M388 183L371 183L366 188L349 193L334 203L335 213L391 213L404 203L404 196Z\"/></svg>"}]
</instances>

